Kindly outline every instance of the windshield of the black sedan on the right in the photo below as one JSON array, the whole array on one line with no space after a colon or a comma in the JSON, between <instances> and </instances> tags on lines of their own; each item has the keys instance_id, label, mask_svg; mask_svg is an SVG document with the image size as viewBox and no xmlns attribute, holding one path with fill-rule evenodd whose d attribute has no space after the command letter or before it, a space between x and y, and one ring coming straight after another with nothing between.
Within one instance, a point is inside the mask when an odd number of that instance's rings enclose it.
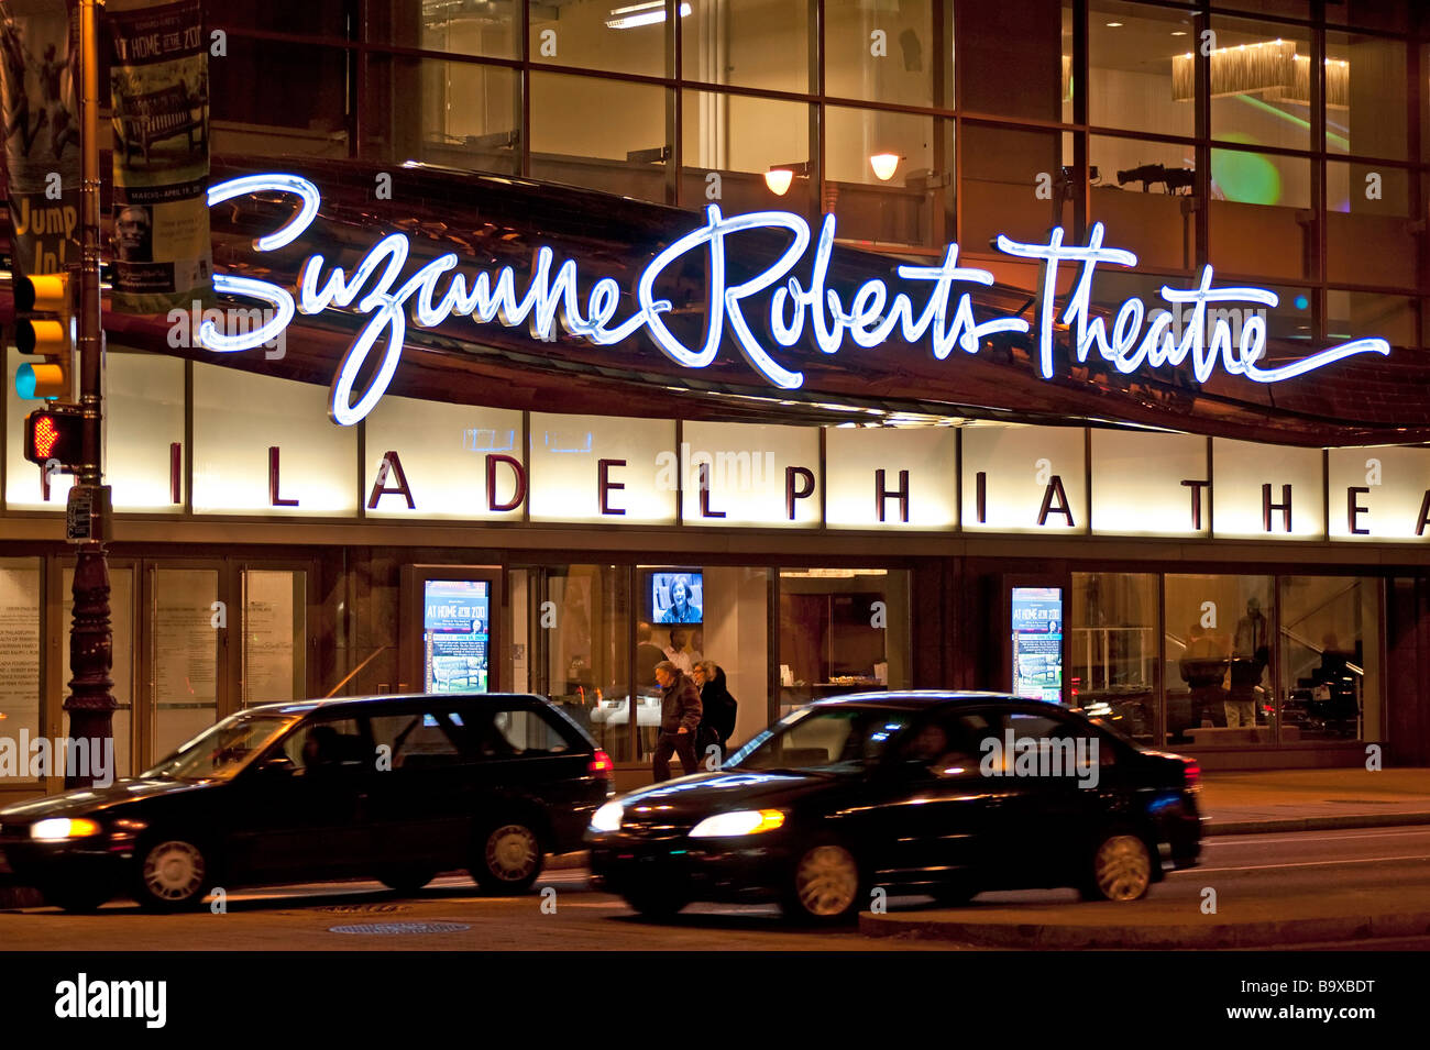
<instances>
[{"instance_id":1,"label":"windshield of the black sedan on the right","mask_svg":"<svg viewBox=\"0 0 1430 1050\"><path fill-rule=\"evenodd\" d=\"M908 711L805 707L745 744L725 769L855 773L877 763L909 721Z\"/></svg>"}]
</instances>

